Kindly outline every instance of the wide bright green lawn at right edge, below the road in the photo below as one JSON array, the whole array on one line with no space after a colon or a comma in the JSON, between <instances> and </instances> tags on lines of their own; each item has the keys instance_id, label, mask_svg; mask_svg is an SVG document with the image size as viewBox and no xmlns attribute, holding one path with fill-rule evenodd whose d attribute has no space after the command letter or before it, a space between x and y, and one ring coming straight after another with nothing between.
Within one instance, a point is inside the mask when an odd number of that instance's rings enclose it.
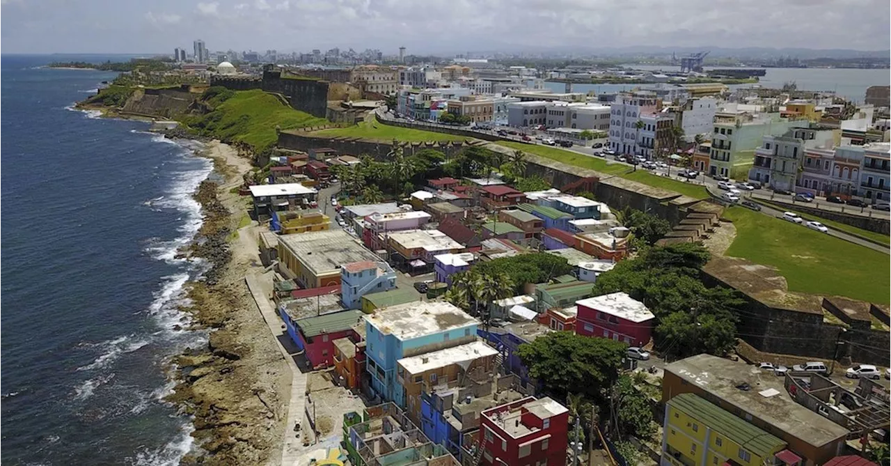
<instances>
[{"instance_id":1,"label":"wide bright green lawn at right edge, below the road","mask_svg":"<svg viewBox=\"0 0 891 466\"><path fill-rule=\"evenodd\" d=\"M724 217L737 231L727 256L776 267L789 290L891 304L891 288L877 279L891 264L887 254L747 208Z\"/></svg>"}]
</instances>

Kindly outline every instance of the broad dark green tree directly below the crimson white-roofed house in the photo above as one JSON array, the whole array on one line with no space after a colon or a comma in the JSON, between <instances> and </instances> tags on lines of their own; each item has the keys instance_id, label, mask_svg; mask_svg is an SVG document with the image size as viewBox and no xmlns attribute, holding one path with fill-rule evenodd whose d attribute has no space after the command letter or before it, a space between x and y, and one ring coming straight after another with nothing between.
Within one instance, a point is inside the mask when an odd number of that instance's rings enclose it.
<instances>
[{"instance_id":1,"label":"broad dark green tree directly below the crimson white-roofed house","mask_svg":"<svg viewBox=\"0 0 891 466\"><path fill-rule=\"evenodd\" d=\"M593 339L568 331L553 331L519 346L518 355L529 374L558 397L578 393L603 400L618 378L627 345Z\"/></svg>"}]
</instances>

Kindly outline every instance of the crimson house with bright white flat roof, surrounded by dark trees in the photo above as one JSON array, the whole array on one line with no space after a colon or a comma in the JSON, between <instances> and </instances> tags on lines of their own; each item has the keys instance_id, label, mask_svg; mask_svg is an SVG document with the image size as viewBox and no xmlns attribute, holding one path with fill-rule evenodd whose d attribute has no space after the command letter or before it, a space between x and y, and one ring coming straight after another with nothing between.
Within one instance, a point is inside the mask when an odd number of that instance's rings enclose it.
<instances>
[{"instance_id":1,"label":"crimson house with bright white flat roof, surrounded by dark trees","mask_svg":"<svg viewBox=\"0 0 891 466\"><path fill-rule=\"evenodd\" d=\"M576 306L576 333L579 335L625 341L638 347L650 342L656 316L627 293L582 299L576 301Z\"/></svg>"}]
</instances>

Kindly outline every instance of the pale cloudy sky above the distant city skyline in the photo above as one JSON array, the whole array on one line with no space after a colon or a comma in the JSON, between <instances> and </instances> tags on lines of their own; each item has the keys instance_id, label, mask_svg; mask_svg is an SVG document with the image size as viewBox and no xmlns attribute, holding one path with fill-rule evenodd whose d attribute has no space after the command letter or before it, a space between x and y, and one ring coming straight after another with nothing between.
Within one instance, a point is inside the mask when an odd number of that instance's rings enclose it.
<instances>
[{"instance_id":1,"label":"pale cloudy sky above the distant city skyline","mask_svg":"<svg viewBox=\"0 0 891 466\"><path fill-rule=\"evenodd\" d=\"M891 48L891 0L0 0L0 53Z\"/></svg>"}]
</instances>

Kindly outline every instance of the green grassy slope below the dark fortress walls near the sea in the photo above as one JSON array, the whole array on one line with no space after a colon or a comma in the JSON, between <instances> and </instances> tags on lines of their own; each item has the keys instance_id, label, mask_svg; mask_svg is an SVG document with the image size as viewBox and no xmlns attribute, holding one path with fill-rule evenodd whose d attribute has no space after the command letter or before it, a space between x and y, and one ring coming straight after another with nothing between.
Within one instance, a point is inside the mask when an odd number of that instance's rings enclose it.
<instances>
[{"instance_id":1,"label":"green grassy slope below the dark fortress walls near the sea","mask_svg":"<svg viewBox=\"0 0 891 466\"><path fill-rule=\"evenodd\" d=\"M274 95L260 90L233 92L214 89L209 89L210 94L205 94L203 98L214 105L215 110L184 119L184 123L200 135L249 143L259 152L278 139L275 127L291 129L328 123L326 119L294 110Z\"/></svg>"}]
</instances>

